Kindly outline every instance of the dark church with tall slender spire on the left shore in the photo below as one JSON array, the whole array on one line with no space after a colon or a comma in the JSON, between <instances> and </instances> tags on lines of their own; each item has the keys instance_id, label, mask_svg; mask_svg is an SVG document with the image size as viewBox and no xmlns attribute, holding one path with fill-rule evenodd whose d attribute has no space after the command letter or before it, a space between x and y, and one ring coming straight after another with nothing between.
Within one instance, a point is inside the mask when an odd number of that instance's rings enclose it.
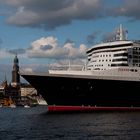
<instances>
[{"instance_id":1,"label":"dark church with tall slender spire on the left shore","mask_svg":"<svg viewBox=\"0 0 140 140\"><path fill-rule=\"evenodd\" d=\"M0 104L10 106L10 104L17 104L20 102L20 75L19 75L19 61L17 55L14 57L12 69L12 81L8 84L6 75L5 80L0 85Z\"/></svg>"}]
</instances>

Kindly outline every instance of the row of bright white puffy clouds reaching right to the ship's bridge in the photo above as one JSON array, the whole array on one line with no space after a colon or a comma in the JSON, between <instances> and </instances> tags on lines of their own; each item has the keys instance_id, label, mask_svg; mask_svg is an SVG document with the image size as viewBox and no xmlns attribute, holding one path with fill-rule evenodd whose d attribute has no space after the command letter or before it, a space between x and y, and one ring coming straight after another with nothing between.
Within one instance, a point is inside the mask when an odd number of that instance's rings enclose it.
<instances>
[{"instance_id":1,"label":"row of bright white puffy clouds reaching right to the ship's bridge","mask_svg":"<svg viewBox=\"0 0 140 140\"><path fill-rule=\"evenodd\" d=\"M30 58L53 58L53 59L66 59L66 58L83 58L85 57L86 46L81 44L76 48L73 42L66 42L64 46L58 44L57 38L42 37L31 43L27 50Z\"/></svg>"}]
</instances>

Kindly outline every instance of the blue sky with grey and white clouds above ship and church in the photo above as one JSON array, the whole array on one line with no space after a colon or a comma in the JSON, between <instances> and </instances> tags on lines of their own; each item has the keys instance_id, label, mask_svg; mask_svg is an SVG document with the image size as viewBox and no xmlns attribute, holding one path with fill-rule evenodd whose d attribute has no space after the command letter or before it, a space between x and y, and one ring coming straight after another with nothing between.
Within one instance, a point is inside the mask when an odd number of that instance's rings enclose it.
<instances>
[{"instance_id":1,"label":"blue sky with grey and white clouds above ship and church","mask_svg":"<svg viewBox=\"0 0 140 140\"><path fill-rule=\"evenodd\" d=\"M120 24L140 40L139 0L0 0L0 82L20 71L83 64L86 50L112 39Z\"/></svg>"}]
</instances>

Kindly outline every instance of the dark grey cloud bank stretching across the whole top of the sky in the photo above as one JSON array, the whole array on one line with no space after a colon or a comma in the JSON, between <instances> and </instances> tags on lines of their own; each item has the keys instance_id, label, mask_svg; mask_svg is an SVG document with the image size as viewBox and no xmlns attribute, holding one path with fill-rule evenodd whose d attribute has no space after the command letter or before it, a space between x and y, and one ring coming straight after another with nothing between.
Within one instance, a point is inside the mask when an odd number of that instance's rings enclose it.
<instances>
[{"instance_id":1,"label":"dark grey cloud bank stretching across the whole top of the sky","mask_svg":"<svg viewBox=\"0 0 140 140\"><path fill-rule=\"evenodd\" d=\"M125 16L140 19L139 0L122 0L120 5L103 0L0 0L7 23L21 27L55 29L73 20L97 20ZM5 10L5 11L4 11Z\"/></svg>"}]
</instances>

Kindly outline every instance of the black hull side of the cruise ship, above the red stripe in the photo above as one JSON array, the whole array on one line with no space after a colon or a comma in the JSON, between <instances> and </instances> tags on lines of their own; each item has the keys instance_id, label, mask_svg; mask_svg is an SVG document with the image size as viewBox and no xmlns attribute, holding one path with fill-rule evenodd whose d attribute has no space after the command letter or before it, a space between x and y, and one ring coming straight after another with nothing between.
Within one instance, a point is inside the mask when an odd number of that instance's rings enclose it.
<instances>
[{"instance_id":1,"label":"black hull side of the cruise ship, above the red stripe","mask_svg":"<svg viewBox=\"0 0 140 140\"><path fill-rule=\"evenodd\" d=\"M140 81L21 75L49 106L139 108Z\"/></svg>"}]
</instances>

